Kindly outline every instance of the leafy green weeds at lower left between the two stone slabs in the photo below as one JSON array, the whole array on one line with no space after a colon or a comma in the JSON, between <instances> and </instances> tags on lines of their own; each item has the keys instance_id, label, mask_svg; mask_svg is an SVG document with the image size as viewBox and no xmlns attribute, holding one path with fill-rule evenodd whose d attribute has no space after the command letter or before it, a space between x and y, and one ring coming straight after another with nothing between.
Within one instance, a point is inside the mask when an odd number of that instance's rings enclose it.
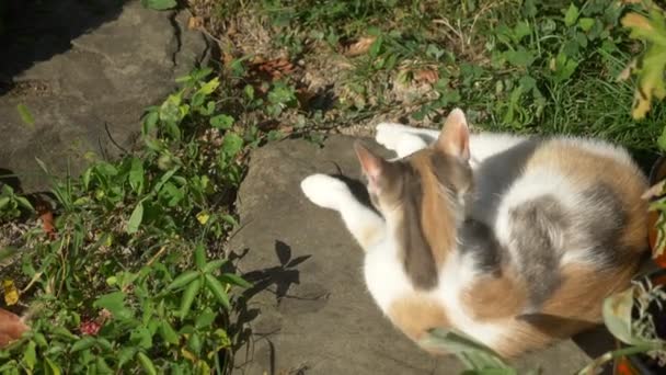
<instances>
[{"instance_id":1,"label":"leafy green weeds at lower left between the two stone slabs","mask_svg":"<svg viewBox=\"0 0 666 375\"><path fill-rule=\"evenodd\" d=\"M256 139L220 111L210 73L184 77L147 111L141 151L54 180L53 236L27 231L8 268L33 318L0 351L0 373L227 370L231 311L250 284L231 272L221 243ZM3 218L32 211L8 185L0 204Z\"/></svg>"}]
</instances>

